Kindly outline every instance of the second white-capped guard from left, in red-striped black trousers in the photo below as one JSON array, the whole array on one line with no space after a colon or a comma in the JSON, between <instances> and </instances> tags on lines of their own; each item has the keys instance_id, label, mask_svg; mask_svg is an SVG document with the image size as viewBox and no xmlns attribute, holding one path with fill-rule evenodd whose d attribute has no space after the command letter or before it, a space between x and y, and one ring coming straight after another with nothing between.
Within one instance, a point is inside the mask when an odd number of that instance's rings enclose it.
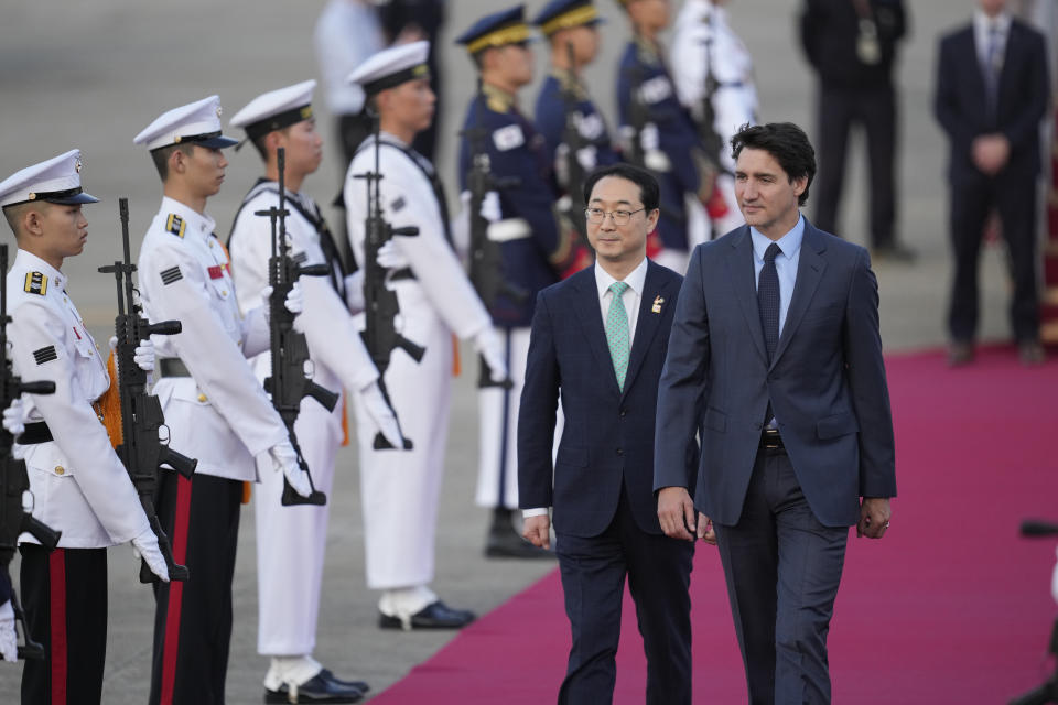
<instances>
[{"instance_id":1,"label":"second white-capped guard from left, in red-striped black trousers","mask_svg":"<svg viewBox=\"0 0 1058 705\"><path fill-rule=\"evenodd\" d=\"M256 457L269 458L303 496L282 419L247 357L268 348L266 310L239 312L227 254L214 235L206 199L220 189L236 143L220 134L220 102L210 96L174 108L133 140L151 152L164 197L139 258L139 286L151 321L183 329L159 336L162 403L172 445L198 458L191 480L163 471L158 516L173 556L191 579L155 592L150 703L224 702L231 636L231 577L244 482L257 478ZM300 290L288 297L300 310Z\"/></svg>"}]
</instances>

